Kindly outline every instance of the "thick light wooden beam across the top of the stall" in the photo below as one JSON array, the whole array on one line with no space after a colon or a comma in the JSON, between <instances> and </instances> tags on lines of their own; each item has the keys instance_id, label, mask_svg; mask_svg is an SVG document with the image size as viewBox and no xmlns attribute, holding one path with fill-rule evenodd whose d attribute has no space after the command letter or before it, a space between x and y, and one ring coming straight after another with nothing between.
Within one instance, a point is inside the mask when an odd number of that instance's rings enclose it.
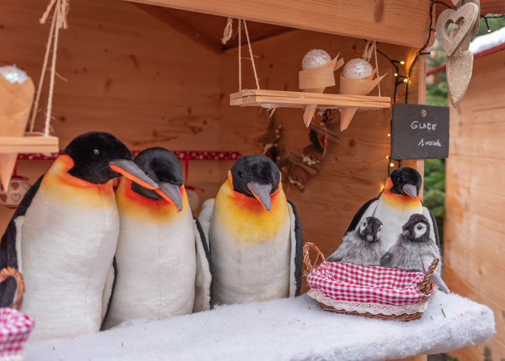
<instances>
[{"instance_id":1,"label":"thick light wooden beam across the top of the stall","mask_svg":"<svg viewBox=\"0 0 505 361\"><path fill-rule=\"evenodd\" d=\"M427 0L126 0L293 28L421 47Z\"/></svg>"}]
</instances>

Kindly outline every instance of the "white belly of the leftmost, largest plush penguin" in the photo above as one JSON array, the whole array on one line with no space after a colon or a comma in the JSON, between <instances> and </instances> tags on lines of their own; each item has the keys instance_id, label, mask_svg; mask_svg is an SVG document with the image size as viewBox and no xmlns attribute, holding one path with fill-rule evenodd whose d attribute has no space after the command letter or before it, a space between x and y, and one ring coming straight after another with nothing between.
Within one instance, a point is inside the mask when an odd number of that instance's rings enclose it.
<instances>
[{"instance_id":1,"label":"white belly of the leftmost, largest plush penguin","mask_svg":"<svg viewBox=\"0 0 505 361\"><path fill-rule=\"evenodd\" d=\"M26 211L21 311L36 320L32 338L99 331L104 284L119 232L112 183L108 186L99 185L96 191L89 187L83 199L73 198L65 186L55 196L55 189L42 183Z\"/></svg>"}]
</instances>

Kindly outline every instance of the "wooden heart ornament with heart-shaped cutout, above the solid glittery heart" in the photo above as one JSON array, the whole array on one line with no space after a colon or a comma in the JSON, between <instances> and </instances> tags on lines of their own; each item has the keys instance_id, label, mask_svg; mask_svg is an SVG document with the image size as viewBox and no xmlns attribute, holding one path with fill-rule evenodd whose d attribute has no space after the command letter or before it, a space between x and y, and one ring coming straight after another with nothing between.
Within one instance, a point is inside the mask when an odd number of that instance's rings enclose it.
<instances>
[{"instance_id":1,"label":"wooden heart ornament with heart-shaped cutout, above the solid glittery heart","mask_svg":"<svg viewBox=\"0 0 505 361\"><path fill-rule=\"evenodd\" d=\"M473 3L465 4L458 10L447 9L442 11L437 20L436 34L438 42L447 53L447 56L456 53L478 17L479 7ZM452 40L447 35L447 28L451 23L459 25L458 34Z\"/></svg>"}]
</instances>

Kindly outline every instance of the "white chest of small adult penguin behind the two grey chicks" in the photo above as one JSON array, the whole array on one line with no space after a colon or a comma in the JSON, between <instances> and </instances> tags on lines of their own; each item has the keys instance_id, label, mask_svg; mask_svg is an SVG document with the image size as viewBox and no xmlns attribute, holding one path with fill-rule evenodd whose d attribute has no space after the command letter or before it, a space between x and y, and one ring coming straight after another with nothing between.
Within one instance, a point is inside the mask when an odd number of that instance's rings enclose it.
<instances>
[{"instance_id":1,"label":"white chest of small adult penguin behind the two grey chicks","mask_svg":"<svg viewBox=\"0 0 505 361\"><path fill-rule=\"evenodd\" d=\"M381 240L384 250L388 250L398 240L403 225L415 213L423 214L421 202L407 203L405 207L398 207L396 204L390 205L379 199L373 216L382 222Z\"/></svg>"}]
</instances>

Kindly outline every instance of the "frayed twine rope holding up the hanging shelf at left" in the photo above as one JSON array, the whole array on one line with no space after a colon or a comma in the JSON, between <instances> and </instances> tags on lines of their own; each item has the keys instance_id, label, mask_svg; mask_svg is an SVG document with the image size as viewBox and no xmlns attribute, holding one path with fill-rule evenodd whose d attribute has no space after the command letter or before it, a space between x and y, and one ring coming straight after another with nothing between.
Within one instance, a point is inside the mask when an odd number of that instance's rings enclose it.
<instances>
[{"instance_id":1,"label":"frayed twine rope holding up the hanging shelf at left","mask_svg":"<svg viewBox=\"0 0 505 361\"><path fill-rule=\"evenodd\" d=\"M57 57L57 49L58 49L58 36L61 28L67 29L67 14L69 10L69 0L51 0L47 8L45 9L44 14L40 18L40 24L45 24L49 14L54 9L53 12L53 20L51 22L51 28L49 29L49 38L47 39L47 44L45 47L45 56L44 62L42 65L42 72L40 73L40 80L38 82L37 87L37 95L35 97L35 102L33 104L33 112L32 117L30 119L30 132L33 131L33 127L35 125L35 116L38 112L38 103L40 100L40 94L42 90L42 85L44 83L45 71L47 68L47 62L49 60L49 51L51 47L53 47L53 59L51 62L51 77L49 79L49 94L47 97L47 112L45 114L45 124L44 124L44 135L49 135L49 130L51 129L51 110L53 108L53 93L55 87L55 73L56 73L56 57ZM54 38L54 42L53 42Z\"/></svg>"}]
</instances>

